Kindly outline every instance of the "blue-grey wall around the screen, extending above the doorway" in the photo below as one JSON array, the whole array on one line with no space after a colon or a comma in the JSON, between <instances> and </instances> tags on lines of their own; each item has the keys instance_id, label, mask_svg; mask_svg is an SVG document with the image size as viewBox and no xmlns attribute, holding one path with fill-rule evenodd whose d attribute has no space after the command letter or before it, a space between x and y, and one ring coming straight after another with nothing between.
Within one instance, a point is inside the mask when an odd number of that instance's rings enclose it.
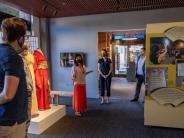
<instances>
[{"instance_id":1,"label":"blue-grey wall around the screen, extending above the doorway","mask_svg":"<svg viewBox=\"0 0 184 138\"><path fill-rule=\"evenodd\" d=\"M60 52L82 51L87 53L88 68L94 71L87 77L87 95L91 98L97 97L97 33L143 29L150 23L184 21L183 11L184 8L172 8L51 19L53 89L72 91L70 68L60 67Z\"/></svg>"}]
</instances>

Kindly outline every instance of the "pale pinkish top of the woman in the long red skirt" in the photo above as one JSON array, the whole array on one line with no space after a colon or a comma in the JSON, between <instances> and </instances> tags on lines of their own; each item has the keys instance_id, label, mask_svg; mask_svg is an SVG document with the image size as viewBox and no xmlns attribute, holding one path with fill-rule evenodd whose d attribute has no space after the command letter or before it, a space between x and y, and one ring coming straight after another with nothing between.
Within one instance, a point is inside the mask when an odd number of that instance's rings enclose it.
<instances>
[{"instance_id":1,"label":"pale pinkish top of the woman in the long red skirt","mask_svg":"<svg viewBox=\"0 0 184 138\"><path fill-rule=\"evenodd\" d=\"M74 85L75 84L86 84L86 67L83 66L84 70L81 69L79 66L72 67L72 78L74 78Z\"/></svg>"}]
</instances>

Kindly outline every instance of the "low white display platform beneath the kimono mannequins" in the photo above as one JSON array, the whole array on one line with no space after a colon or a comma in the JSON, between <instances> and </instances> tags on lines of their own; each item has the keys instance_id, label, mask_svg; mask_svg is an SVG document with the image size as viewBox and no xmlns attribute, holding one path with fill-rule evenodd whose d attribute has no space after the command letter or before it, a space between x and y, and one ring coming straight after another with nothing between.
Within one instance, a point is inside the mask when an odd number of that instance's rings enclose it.
<instances>
[{"instance_id":1,"label":"low white display platform beneath the kimono mannequins","mask_svg":"<svg viewBox=\"0 0 184 138\"><path fill-rule=\"evenodd\" d=\"M50 109L39 111L39 116L32 118L28 133L41 134L66 115L65 105L50 105Z\"/></svg>"}]
</instances>

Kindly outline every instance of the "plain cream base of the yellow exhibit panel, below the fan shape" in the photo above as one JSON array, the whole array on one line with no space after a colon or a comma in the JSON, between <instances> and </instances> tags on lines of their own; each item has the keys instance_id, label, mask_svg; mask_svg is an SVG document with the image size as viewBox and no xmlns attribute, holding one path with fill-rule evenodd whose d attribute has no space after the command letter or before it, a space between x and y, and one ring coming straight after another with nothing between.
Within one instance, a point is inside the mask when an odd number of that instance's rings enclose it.
<instances>
[{"instance_id":1,"label":"plain cream base of the yellow exhibit panel, below the fan shape","mask_svg":"<svg viewBox=\"0 0 184 138\"><path fill-rule=\"evenodd\" d=\"M151 97L145 97L144 125L184 128L184 104L177 107L161 105Z\"/></svg>"}]
</instances>

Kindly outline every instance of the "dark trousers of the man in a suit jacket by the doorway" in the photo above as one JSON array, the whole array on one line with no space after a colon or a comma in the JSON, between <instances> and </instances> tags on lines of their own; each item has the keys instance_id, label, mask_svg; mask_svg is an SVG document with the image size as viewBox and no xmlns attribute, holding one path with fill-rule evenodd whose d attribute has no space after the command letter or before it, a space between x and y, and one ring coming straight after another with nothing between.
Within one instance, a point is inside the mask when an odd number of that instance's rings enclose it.
<instances>
[{"instance_id":1,"label":"dark trousers of the man in a suit jacket by the doorway","mask_svg":"<svg viewBox=\"0 0 184 138\"><path fill-rule=\"evenodd\" d=\"M141 86L142 86L142 83L144 82L144 76L137 75L136 78L137 78L137 83L136 83L136 90L135 90L135 96L134 96L134 98L135 99L139 99L139 95L140 95L140 91L141 91Z\"/></svg>"}]
</instances>

